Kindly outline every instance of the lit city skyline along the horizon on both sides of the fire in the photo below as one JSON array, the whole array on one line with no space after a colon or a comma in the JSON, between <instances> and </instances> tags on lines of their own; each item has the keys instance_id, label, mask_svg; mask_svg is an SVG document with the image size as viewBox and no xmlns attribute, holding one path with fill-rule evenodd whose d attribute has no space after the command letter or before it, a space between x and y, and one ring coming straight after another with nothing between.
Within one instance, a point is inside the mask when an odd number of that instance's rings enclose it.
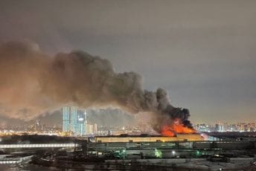
<instances>
[{"instance_id":1,"label":"lit city skyline along the horizon on both sides of the fire","mask_svg":"<svg viewBox=\"0 0 256 171\"><path fill-rule=\"evenodd\" d=\"M62 109L62 113L60 114L60 120L62 121L61 124L54 124L48 123L47 120L31 120L29 123L20 124L20 125L11 125L11 126L2 126L0 125L0 131L6 132L28 132L30 134L38 134L38 133L48 133L52 134L54 131L60 135L74 135L74 136L81 136L80 133L80 126L83 124L83 129L85 133L83 136L92 136L92 135L121 135L121 134L156 134L153 129L150 127L148 123L139 122L133 124L124 124L124 125L112 125L111 123L94 123L96 118L92 118L95 115L95 111L89 110L90 118L87 120L87 114L83 113L83 110L77 110L75 106L64 107ZM80 118L78 115L83 114L83 122L78 122ZM87 112L86 112L87 113ZM97 114L97 112L96 112ZM74 120L74 117L78 119ZM102 115L101 115L102 116ZM108 114L106 114L108 116ZM97 119L96 119L97 120ZM82 121L82 120L80 120ZM98 120L97 120L98 121ZM77 124L78 123L78 124ZM77 128L77 129L76 129ZM101 133L96 133L97 128ZM196 132L256 132L256 122L223 122L219 121L216 123L193 123L193 128L196 129ZM103 132L104 133L103 133ZM111 131L111 132L109 132ZM113 131L113 132L112 132ZM82 131L83 132L83 131ZM114 133L115 132L115 133Z\"/></svg>"}]
</instances>

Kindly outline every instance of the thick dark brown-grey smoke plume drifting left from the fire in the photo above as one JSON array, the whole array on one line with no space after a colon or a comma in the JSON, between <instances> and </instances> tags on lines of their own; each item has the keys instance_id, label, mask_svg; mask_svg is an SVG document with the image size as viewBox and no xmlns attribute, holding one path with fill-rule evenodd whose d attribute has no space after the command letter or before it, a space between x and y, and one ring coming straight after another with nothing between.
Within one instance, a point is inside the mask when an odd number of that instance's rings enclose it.
<instances>
[{"instance_id":1,"label":"thick dark brown-grey smoke plume drifting left from the fire","mask_svg":"<svg viewBox=\"0 0 256 171\"><path fill-rule=\"evenodd\" d=\"M173 107L167 91L144 90L140 75L115 73L109 60L84 51L51 57L33 43L2 44L0 92L0 114L5 117L30 120L66 105L112 106L130 114L153 114L152 126L159 133L174 120L192 129L188 109Z\"/></svg>"}]
</instances>

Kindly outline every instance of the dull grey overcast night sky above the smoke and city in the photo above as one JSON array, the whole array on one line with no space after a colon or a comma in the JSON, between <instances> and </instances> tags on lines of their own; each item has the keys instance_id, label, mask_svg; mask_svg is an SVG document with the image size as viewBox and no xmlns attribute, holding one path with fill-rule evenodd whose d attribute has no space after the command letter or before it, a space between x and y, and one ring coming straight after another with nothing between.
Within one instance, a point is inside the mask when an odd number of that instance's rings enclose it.
<instances>
[{"instance_id":1,"label":"dull grey overcast night sky above the smoke and city","mask_svg":"<svg viewBox=\"0 0 256 171\"><path fill-rule=\"evenodd\" d=\"M254 0L1 0L0 43L109 59L144 88L166 88L193 123L255 122L255 9Z\"/></svg>"}]
</instances>

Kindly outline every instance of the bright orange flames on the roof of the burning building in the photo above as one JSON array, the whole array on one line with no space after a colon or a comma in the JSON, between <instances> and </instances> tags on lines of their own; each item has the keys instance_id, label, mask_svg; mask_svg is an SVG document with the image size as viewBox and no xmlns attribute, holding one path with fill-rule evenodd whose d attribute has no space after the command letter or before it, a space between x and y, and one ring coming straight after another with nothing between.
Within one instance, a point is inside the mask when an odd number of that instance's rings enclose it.
<instances>
[{"instance_id":1,"label":"bright orange flames on the roof of the burning building","mask_svg":"<svg viewBox=\"0 0 256 171\"><path fill-rule=\"evenodd\" d=\"M164 136L170 136L173 137L176 135L176 133L185 133L185 134L191 134L195 133L195 129L188 128L184 126L180 120L174 120L173 124L163 126L161 129L161 135Z\"/></svg>"}]
</instances>

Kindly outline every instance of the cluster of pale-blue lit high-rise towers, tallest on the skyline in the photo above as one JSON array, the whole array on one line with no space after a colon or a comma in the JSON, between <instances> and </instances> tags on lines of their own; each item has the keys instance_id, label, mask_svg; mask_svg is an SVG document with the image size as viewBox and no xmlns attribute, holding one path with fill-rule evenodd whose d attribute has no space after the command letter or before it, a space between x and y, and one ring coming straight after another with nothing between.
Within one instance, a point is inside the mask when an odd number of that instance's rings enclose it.
<instances>
[{"instance_id":1,"label":"cluster of pale-blue lit high-rise towers, tallest on the skyline","mask_svg":"<svg viewBox=\"0 0 256 171\"><path fill-rule=\"evenodd\" d=\"M63 132L73 132L74 135L85 135L86 112L75 106L63 107Z\"/></svg>"}]
</instances>

